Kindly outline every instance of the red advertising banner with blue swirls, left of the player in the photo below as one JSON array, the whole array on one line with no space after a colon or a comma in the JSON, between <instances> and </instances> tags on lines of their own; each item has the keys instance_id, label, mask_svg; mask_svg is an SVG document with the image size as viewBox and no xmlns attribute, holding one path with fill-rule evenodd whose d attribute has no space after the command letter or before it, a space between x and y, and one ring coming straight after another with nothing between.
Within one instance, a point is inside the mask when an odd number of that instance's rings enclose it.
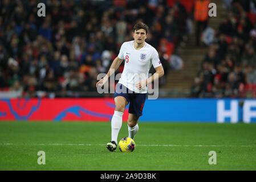
<instances>
[{"instance_id":1,"label":"red advertising banner with blue swirls, left of the player","mask_svg":"<svg viewBox=\"0 0 256 182\"><path fill-rule=\"evenodd\" d=\"M0 121L111 121L113 98L1 99ZM127 109L125 109L127 110ZM128 119L128 112L123 115Z\"/></svg>"}]
</instances>

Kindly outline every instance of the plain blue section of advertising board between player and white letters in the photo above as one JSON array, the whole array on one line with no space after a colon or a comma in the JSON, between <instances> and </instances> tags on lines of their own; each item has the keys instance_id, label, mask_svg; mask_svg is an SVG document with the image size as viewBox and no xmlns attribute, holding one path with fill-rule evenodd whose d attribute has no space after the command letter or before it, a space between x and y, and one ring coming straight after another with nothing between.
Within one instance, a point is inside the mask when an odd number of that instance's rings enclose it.
<instances>
[{"instance_id":1,"label":"plain blue section of advertising board between player and white letters","mask_svg":"<svg viewBox=\"0 0 256 182\"><path fill-rule=\"evenodd\" d=\"M216 100L173 98L147 100L140 121L216 122Z\"/></svg>"}]
</instances>

